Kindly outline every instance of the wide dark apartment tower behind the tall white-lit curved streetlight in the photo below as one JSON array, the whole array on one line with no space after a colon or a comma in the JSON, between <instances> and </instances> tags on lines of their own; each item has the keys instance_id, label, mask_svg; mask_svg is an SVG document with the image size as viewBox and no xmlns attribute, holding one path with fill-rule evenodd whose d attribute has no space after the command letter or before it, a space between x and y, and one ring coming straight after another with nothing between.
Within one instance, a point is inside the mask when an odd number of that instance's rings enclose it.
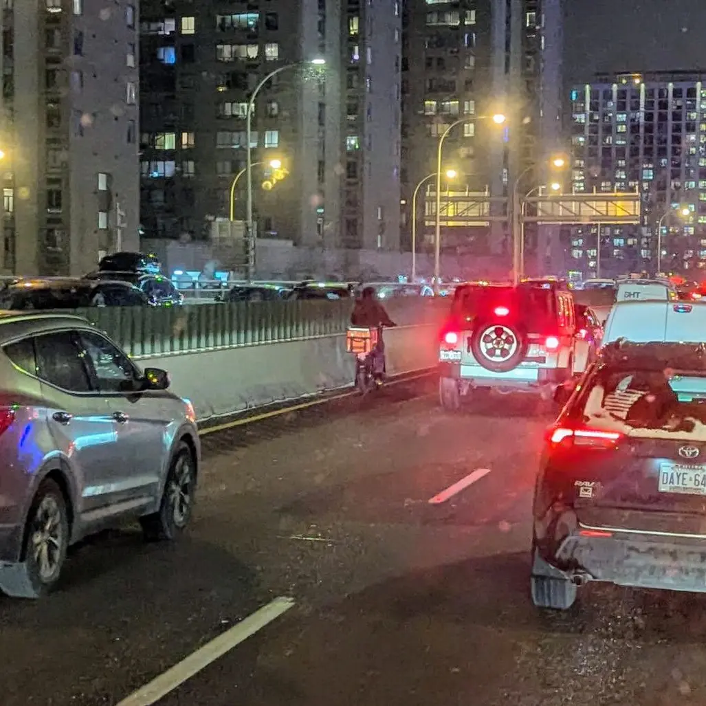
<instances>
[{"instance_id":1,"label":"wide dark apartment tower behind the tall white-lit curved streetlight","mask_svg":"<svg viewBox=\"0 0 706 706\"><path fill-rule=\"evenodd\" d=\"M397 249L400 4L145 0L141 213L150 237L207 239L229 217L252 121L258 235L323 249ZM313 59L325 59L313 66ZM271 160L289 175L263 191ZM243 175L234 189L245 216Z\"/></svg>"}]
</instances>

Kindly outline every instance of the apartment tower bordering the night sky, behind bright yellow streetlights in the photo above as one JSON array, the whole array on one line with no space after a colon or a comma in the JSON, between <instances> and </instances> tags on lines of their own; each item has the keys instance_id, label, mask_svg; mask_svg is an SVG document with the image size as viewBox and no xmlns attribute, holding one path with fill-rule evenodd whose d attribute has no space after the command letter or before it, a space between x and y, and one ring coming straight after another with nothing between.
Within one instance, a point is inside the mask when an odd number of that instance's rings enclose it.
<instances>
[{"instance_id":1,"label":"apartment tower bordering the night sky, behind bright yellow streetlights","mask_svg":"<svg viewBox=\"0 0 706 706\"><path fill-rule=\"evenodd\" d=\"M415 186L436 172L439 136L464 118L443 151L444 165L460 175L451 188L509 196L513 179L558 141L560 69L560 0L407 0L402 181L408 208ZM499 130L487 119L498 112L508 118ZM525 172L530 186L543 176L532 171ZM410 217L407 210L407 235ZM442 230L442 245L475 253L509 249L507 225Z\"/></svg>"}]
</instances>

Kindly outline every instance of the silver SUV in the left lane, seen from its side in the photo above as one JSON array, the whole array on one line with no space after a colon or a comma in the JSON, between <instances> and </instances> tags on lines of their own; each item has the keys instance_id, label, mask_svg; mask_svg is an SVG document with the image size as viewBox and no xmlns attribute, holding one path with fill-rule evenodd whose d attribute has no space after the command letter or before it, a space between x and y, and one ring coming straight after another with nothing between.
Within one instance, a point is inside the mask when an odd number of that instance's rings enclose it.
<instances>
[{"instance_id":1,"label":"silver SUV in the left lane, seen from its side","mask_svg":"<svg viewBox=\"0 0 706 706\"><path fill-rule=\"evenodd\" d=\"M78 316L0 312L0 589L37 598L70 544L123 520L175 539L200 447L191 403Z\"/></svg>"}]
</instances>

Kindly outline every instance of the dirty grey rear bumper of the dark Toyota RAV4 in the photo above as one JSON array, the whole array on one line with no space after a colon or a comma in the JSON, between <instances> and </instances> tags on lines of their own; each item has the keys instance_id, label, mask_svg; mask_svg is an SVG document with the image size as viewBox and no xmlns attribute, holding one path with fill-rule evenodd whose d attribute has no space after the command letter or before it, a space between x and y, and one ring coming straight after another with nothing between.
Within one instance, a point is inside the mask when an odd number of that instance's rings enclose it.
<instances>
[{"instance_id":1,"label":"dirty grey rear bumper of the dark Toyota RAV4","mask_svg":"<svg viewBox=\"0 0 706 706\"><path fill-rule=\"evenodd\" d=\"M538 551L532 572L578 583L594 580L704 593L706 536L670 537L578 525L553 556Z\"/></svg>"}]
</instances>

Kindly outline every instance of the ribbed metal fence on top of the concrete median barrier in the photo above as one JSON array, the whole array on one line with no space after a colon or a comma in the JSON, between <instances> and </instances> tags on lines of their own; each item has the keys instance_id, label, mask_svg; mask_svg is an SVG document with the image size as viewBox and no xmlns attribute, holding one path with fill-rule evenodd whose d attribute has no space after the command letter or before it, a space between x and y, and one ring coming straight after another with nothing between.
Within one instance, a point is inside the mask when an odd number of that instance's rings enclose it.
<instances>
[{"instance_id":1,"label":"ribbed metal fence on top of the concrete median barrier","mask_svg":"<svg viewBox=\"0 0 706 706\"><path fill-rule=\"evenodd\" d=\"M390 300L398 325L435 325L448 299ZM132 357L262 345L345 333L352 301L258 301L175 307L92 307L76 311L108 333Z\"/></svg>"}]
</instances>

